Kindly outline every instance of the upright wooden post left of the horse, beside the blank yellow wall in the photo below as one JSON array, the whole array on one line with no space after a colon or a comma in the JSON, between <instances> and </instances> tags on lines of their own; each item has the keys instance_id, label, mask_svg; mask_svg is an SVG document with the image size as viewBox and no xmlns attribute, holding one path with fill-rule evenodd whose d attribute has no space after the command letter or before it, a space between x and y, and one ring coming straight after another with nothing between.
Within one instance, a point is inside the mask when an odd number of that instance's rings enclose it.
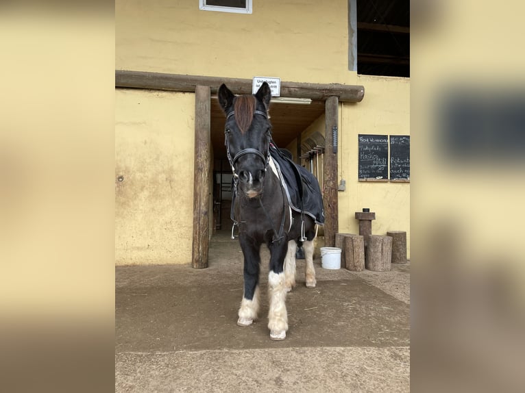
<instances>
[{"instance_id":1,"label":"upright wooden post left of the horse, beside the blank yellow wall","mask_svg":"<svg viewBox=\"0 0 525 393\"><path fill-rule=\"evenodd\" d=\"M193 268L208 267L210 240L210 87L195 88L195 166L193 168Z\"/></svg>"}]
</instances>

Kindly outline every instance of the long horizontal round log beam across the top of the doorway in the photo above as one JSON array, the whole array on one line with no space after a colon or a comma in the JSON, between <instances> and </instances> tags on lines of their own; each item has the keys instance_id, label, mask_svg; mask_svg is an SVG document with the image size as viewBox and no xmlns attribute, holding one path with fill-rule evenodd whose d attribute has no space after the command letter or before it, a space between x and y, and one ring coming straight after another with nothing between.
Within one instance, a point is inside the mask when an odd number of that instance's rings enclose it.
<instances>
[{"instance_id":1,"label":"long horizontal round log beam across the top of the doorway","mask_svg":"<svg viewBox=\"0 0 525 393\"><path fill-rule=\"evenodd\" d=\"M221 84L226 84L234 94L252 93L252 79L149 73L144 71L115 71L115 87L117 88L195 92L196 86L200 85L210 86L211 92L215 94ZM338 97L341 102L361 102L365 95L365 88L361 85L306 84L281 81L280 95L281 97L307 98L321 101L334 96Z\"/></svg>"}]
</instances>

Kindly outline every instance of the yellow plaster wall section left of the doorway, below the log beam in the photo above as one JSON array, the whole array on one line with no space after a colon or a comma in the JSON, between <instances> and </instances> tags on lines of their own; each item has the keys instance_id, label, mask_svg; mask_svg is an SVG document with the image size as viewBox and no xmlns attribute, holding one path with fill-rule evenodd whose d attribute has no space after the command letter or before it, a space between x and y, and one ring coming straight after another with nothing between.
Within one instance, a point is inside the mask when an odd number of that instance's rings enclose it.
<instances>
[{"instance_id":1,"label":"yellow plaster wall section left of the doorway, below the log beam","mask_svg":"<svg viewBox=\"0 0 525 393\"><path fill-rule=\"evenodd\" d=\"M116 90L117 264L191 263L194 118L194 94Z\"/></svg>"}]
</instances>

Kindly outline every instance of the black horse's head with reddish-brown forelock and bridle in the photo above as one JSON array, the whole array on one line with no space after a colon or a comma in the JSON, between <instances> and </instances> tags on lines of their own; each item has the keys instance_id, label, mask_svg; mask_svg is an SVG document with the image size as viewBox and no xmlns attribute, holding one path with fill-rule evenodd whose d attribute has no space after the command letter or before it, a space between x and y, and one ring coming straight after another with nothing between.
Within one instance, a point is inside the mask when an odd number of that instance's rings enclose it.
<instances>
[{"instance_id":1,"label":"black horse's head with reddish-brown forelock and bridle","mask_svg":"<svg viewBox=\"0 0 525 393\"><path fill-rule=\"evenodd\" d=\"M271 90L264 82L256 94L236 97L222 84L217 96L226 115L225 144L233 175L247 197L257 197L269 160Z\"/></svg>"}]
</instances>

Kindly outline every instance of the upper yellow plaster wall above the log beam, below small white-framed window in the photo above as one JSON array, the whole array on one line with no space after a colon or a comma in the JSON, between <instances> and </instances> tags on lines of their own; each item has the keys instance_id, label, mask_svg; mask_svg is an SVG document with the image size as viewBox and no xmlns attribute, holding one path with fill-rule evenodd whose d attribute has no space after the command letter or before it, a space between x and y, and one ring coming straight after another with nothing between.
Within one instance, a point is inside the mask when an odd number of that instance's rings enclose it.
<instances>
[{"instance_id":1,"label":"upper yellow plaster wall above the log beam, below small white-framed window","mask_svg":"<svg viewBox=\"0 0 525 393\"><path fill-rule=\"evenodd\" d=\"M347 0L254 1L253 14L199 10L199 1L117 0L121 70L355 84Z\"/></svg>"}]
</instances>

